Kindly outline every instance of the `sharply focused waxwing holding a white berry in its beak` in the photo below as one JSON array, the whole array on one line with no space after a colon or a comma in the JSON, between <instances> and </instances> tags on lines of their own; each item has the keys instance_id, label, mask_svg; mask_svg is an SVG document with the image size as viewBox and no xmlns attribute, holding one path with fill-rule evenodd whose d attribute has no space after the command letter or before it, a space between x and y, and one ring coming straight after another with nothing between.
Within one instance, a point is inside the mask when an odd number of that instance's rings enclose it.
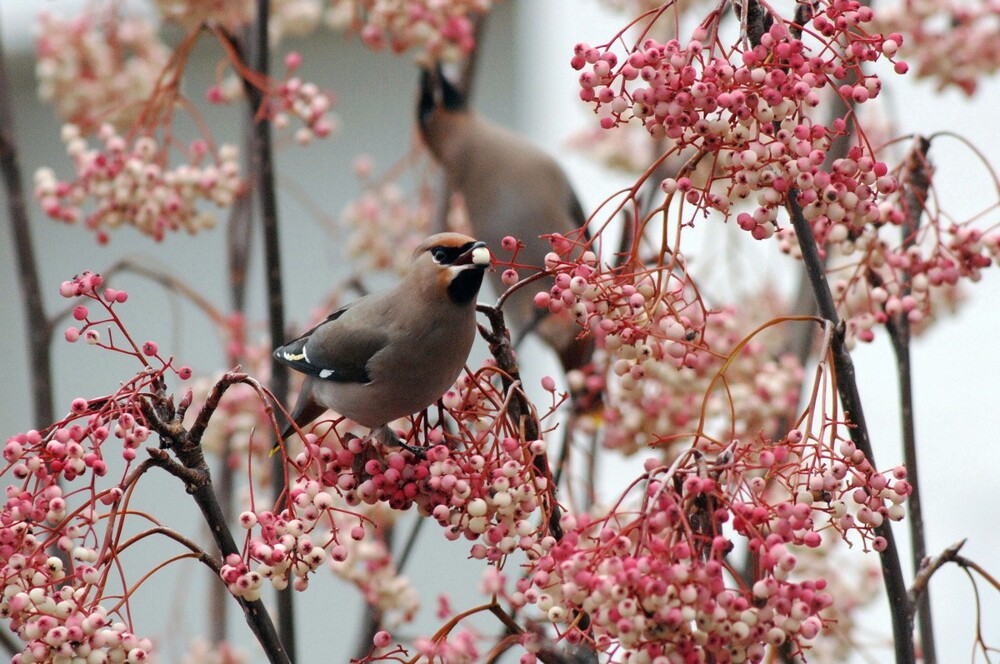
<instances>
[{"instance_id":1,"label":"sharply focused waxwing holding a white berry in its beak","mask_svg":"<svg viewBox=\"0 0 1000 664\"><path fill-rule=\"evenodd\" d=\"M302 427L330 409L394 442L388 423L430 406L465 366L489 265L484 242L432 235L395 288L334 311L277 348L278 361L306 374L292 421ZM282 437L292 431L289 425Z\"/></svg>"}]
</instances>

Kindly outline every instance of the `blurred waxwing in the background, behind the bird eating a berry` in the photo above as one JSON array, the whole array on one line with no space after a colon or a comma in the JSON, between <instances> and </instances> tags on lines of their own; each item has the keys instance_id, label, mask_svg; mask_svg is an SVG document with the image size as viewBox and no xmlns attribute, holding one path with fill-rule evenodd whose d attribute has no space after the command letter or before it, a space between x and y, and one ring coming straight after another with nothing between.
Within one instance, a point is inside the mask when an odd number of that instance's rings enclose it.
<instances>
[{"instance_id":1,"label":"blurred waxwing in the background, behind the bird eating a berry","mask_svg":"<svg viewBox=\"0 0 1000 664\"><path fill-rule=\"evenodd\" d=\"M491 124L470 111L465 96L441 73L423 69L418 123L424 142L453 191L462 194L476 237L494 251L504 236L525 246L517 262L538 269L552 246L540 236L570 235L586 223L580 202L554 159L524 138ZM522 274L521 276L528 276ZM506 290L500 273L493 275L498 293ZM580 327L569 314L546 315L534 304L534 294L549 289L552 280L521 288L504 305L508 326L516 337L537 331L556 351L567 370L590 360L593 344L578 339Z\"/></svg>"}]
</instances>

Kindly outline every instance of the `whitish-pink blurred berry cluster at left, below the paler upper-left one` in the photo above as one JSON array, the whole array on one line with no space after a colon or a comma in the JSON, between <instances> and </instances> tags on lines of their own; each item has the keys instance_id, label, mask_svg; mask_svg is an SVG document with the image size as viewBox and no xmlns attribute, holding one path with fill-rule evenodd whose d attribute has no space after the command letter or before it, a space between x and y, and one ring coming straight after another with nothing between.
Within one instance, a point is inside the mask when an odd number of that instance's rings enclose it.
<instances>
[{"instance_id":1,"label":"whitish-pink blurred berry cluster at left, below the paler upper-left one","mask_svg":"<svg viewBox=\"0 0 1000 664\"><path fill-rule=\"evenodd\" d=\"M104 125L98 137L103 148L88 148L75 126L63 127L76 178L61 181L52 169L41 168L35 173L35 197L53 219L75 223L83 217L99 242L125 225L156 240L168 232L210 228L215 216L200 204L228 207L243 186L233 146L222 146L203 164L210 148L195 141L188 150L189 163L171 169L167 147L152 136L129 140ZM88 201L92 209L84 212Z\"/></svg>"}]
</instances>

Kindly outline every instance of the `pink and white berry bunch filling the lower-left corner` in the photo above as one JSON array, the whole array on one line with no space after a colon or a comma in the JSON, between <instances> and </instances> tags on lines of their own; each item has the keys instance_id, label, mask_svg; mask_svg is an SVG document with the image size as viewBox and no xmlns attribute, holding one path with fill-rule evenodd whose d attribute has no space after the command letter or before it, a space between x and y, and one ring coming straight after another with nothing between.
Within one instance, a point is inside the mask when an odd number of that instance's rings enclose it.
<instances>
[{"instance_id":1,"label":"pink and white berry bunch filling the lower-left corner","mask_svg":"<svg viewBox=\"0 0 1000 664\"><path fill-rule=\"evenodd\" d=\"M191 370L163 358L155 342L132 339L117 313L128 294L105 287L100 275L84 272L63 282L60 293L87 303L73 309L81 325L66 329L67 341L84 339L144 368L116 392L78 397L58 422L5 442L0 474L10 483L0 509L0 615L25 644L18 664L87 656L141 661L152 643L129 626L134 589L114 589L109 566L144 536L125 540L115 528L128 511L136 450L151 431L146 401L168 377L188 378ZM109 445L125 461L112 483L104 479Z\"/></svg>"}]
</instances>

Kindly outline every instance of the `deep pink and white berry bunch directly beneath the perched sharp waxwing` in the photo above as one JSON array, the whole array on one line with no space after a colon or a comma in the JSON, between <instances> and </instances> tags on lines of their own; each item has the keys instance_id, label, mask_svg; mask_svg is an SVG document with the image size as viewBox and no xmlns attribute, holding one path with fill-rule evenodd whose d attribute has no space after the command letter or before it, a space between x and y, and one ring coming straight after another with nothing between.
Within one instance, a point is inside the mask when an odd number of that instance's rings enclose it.
<instances>
[{"instance_id":1,"label":"deep pink and white berry bunch directly beneath the perched sharp waxwing","mask_svg":"<svg viewBox=\"0 0 1000 664\"><path fill-rule=\"evenodd\" d=\"M504 431L497 422L498 398L489 383L460 380L443 401L461 435L423 422L408 439L425 450L420 456L353 435L338 443L336 435L307 434L305 449L291 461L303 476L342 494L348 506L415 505L444 528L447 539L477 542L474 558L498 561L516 550L544 549L551 537L535 517L553 504L550 479L537 461L545 444Z\"/></svg>"}]
</instances>

